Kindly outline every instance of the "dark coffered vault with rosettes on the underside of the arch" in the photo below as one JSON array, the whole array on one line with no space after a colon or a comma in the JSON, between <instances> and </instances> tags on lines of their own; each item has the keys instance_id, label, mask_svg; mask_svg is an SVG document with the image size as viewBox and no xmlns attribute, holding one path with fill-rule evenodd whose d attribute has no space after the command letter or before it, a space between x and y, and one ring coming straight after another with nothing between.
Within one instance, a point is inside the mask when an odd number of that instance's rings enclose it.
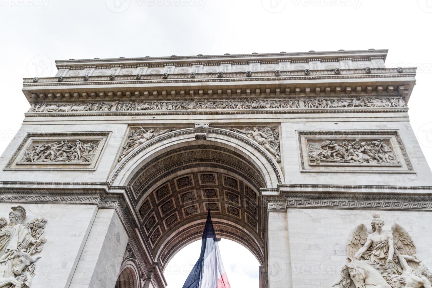
<instances>
[{"instance_id":1,"label":"dark coffered vault with rosettes on the underside of the arch","mask_svg":"<svg viewBox=\"0 0 432 288\"><path fill-rule=\"evenodd\" d=\"M208 211L218 237L247 247L263 265L265 187L248 158L208 144L168 149L130 181L146 243L162 271L178 250L200 239Z\"/></svg>"}]
</instances>

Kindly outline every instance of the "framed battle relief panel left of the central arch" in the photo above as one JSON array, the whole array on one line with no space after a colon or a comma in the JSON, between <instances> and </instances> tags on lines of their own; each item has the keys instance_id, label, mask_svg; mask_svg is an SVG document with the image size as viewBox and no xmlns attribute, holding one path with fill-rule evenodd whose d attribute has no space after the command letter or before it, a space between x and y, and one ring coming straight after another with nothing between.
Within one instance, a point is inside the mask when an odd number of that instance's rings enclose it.
<instances>
[{"instance_id":1,"label":"framed battle relief panel left of the central arch","mask_svg":"<svg viewBox=\"0 0 432 288\"><path fill-rule=\"evenodd\" d=\"M27 133L4 170L95 170L109 134Z\"/></svg>"}]
</instances>

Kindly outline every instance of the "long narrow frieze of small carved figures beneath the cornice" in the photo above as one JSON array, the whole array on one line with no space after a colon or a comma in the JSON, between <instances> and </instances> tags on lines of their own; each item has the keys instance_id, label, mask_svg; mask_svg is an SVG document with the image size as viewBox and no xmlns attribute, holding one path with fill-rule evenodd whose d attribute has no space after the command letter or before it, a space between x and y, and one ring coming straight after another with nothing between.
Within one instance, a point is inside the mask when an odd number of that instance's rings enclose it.
<instances>
[{"instance_id":1,"label":"long narrow frieze of small carved figures beneath the cornice","mask_svg":"<svg viewBox=\"0 0 432 288\"><path fill-rule=\"evenodd\" d=\"M28 113L90 111L184 111L249 109L321 109L321 108L397 108L406 107L403 97L391 98L302 98L302 99L233 99L98 103L33 104Z\"/></svg>"}]
</instances>

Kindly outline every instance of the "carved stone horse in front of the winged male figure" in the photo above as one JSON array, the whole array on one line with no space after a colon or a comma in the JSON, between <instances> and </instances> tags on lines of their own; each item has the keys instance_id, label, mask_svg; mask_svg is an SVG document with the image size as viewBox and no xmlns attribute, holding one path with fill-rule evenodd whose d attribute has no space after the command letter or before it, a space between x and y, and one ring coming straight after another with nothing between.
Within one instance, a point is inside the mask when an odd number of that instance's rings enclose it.
<instances>
[{"instance_id":1,"label":"carved stone horse in front of the winged male figure","mask_svg":"<svg viewBox=\"0 0 432 288\"><path fill-rule=\"evenodd\" d=\"M391 269L378 262L354 260L342 268L341 278L334 285L340 288L392 288Z\"/></svg>"}]
</instances>

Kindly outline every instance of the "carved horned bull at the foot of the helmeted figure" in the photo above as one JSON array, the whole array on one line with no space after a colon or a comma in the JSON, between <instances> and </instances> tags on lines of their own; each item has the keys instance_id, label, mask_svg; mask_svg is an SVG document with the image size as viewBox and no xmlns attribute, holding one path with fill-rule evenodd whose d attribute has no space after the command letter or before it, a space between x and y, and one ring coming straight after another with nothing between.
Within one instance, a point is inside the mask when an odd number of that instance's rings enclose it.
<instances>
[{"instance_id":1,"label":"carved horned bull at the foot of the helmeted figure","mask_svg":"<svg viewBox=\"0 0 432 288\"><path fill-rule=\"evenodd\" d=\"M26 270L39 258L34 259L24 251L14 252L6 262L0 264L0 288L21 288L23 283L30 287L32 275Z\"/></svg>"}]
</instances>

